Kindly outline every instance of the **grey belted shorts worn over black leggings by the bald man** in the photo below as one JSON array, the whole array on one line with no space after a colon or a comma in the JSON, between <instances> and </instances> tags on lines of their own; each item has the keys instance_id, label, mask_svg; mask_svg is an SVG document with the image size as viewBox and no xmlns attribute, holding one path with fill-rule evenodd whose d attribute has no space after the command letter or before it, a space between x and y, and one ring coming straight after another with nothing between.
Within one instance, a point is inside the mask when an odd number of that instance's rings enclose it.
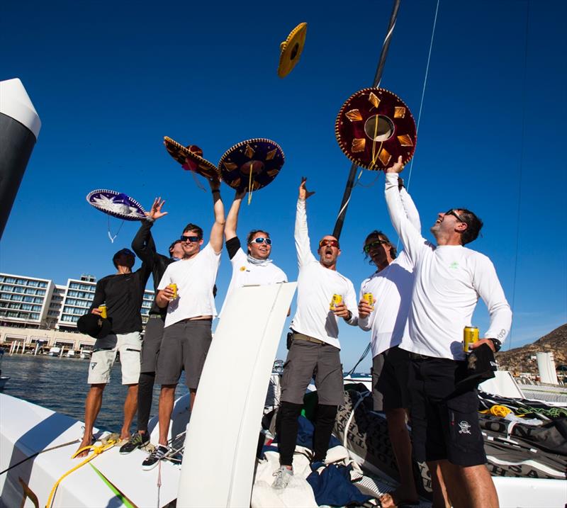
<instances>
[{"instance_id":1,"label":"grey belted shorts worn over black leggings by the bald man","mask_svg":"<svg viewBox=\"0 0 567 508\"><path fill-rule=\"evenodd\" d=\"M301 334L294 334L294 337ZM313 371L319 404L338 406L343 401L342 366L340 350L330 344L315 344L294 338L283 366L281 398L283 402L303 404Z\"/></svg>"}]
</instances>

